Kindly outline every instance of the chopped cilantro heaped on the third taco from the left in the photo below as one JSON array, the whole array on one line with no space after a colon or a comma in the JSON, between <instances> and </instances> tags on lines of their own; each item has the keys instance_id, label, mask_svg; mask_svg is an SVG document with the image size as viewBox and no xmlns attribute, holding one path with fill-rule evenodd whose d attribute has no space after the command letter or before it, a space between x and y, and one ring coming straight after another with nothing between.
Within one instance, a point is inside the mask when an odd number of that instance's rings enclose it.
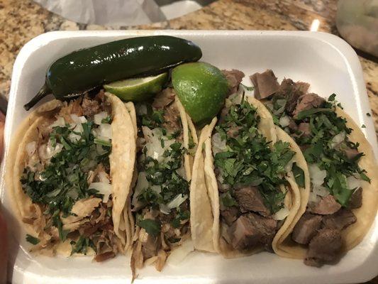
<instances>
[{"instance_id":1,"label":"chopped cilantro heaped on the third taco from the left","mask_svg":"<svg viewBox=\"0 0 378 284\"><path fill-rule=\"evenodd\" d=\"M286 102L279 102L286 104ZM285 166L294 156L289 143L278 141L273 148L258 130L260 116L255 107L241 102L230 107L223 124L216 126L216 132L226 140L228 151L217 153L214 165L218 168L223 183L231 189L240 185L257 186L265 205L272 213L282 207L285 192L279 185L286 185ZM228 136L230 129L239 128L238 137ZM229 193L221 197L225 206L233 206L236 201Z\"/></svg>"}]
</instances>

